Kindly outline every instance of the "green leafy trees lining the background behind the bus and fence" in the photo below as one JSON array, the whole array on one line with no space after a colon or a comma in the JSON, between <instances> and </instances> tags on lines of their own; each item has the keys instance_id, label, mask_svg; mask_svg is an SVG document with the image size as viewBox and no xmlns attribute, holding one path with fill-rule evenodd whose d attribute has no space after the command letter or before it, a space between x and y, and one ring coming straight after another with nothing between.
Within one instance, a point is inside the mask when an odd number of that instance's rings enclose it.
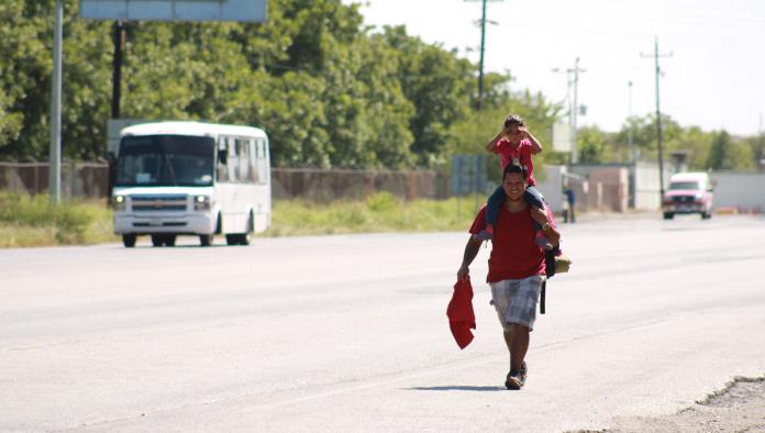
<instances>
[{"instance_id":1,"label":"green leafy trees lining the background behind the bus and fence","mask_svg":"<svg viewBox=\"0 0 765 433\"><path fill-rule=\"evenodd\" d=\"M0 158L47 158L54 3L0 2ZM113 23L64 3L63 153L95 159L106 153ZM264 23L127 22L125 32L122 118L263 127L278 167L446 166L454 153L483 152L509 112L545 143L564 114L510 73L486 75L477 110L476 64L402 26L372 29L359 4L341 0L269 0ZM653 120L630 122L648 157ZM762 152L762 137L743 145L665 124L669 147L692 146L700 168L751 167ZM581 160L624 160L627 129L583 129ZM565 162L550 147L541 164Z\"/></svg>"}]
</instances>

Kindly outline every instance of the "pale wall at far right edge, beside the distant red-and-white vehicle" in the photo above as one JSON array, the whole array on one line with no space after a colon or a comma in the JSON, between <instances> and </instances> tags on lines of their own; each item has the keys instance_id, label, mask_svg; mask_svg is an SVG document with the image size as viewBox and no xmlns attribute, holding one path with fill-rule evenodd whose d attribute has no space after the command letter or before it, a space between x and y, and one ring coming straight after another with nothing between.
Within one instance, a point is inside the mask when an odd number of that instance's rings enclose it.
<instances>
[{"instance_id":1,"label":"pale wall at far right edge, beside the distant red-and-white vehicle","mask_svg":"<svg viewBox=\"0 0 765 433\"><path fill-rule=\"evenodd\" d=\"M765 173L716 171L714 208L736 208L743 212L765 210Z\"/></svg>"}]
</instances>

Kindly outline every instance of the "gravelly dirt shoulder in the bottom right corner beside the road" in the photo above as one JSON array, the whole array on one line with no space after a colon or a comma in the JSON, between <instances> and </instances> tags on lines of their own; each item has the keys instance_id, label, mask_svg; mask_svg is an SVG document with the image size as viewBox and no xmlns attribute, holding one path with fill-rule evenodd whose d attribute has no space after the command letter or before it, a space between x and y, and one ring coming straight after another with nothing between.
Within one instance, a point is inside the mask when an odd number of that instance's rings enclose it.
<instances>
[{"instance_id":1,"label":"gravelly dirt shoulder in the bottom right corner beside the road","mask_svg":"<svg viewBox=\"0 0 765 433\"><path fill-rule=\"evenodd\" d=\"M736 377L723 389L678 413L617 418L610 428L599 432L765 433L765 376Z\"/></svg>"}]
</instances>

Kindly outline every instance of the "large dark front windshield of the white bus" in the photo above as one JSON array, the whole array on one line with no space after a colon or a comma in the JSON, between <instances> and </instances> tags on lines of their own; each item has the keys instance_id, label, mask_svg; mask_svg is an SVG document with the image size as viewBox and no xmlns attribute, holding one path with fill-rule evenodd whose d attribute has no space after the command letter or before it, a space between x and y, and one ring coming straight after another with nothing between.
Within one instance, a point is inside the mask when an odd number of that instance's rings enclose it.
<instances>
[{"instance_id":1,"label":"large dark front windshield of the white bus","mask_svg":"<svg viewBox=\"0 0 765 433\"><path fill-rule=\"evenodd\" d=\"M120 144L115 186L211 186L212 137L125 136Z\"/></svg>"}]
</instances>

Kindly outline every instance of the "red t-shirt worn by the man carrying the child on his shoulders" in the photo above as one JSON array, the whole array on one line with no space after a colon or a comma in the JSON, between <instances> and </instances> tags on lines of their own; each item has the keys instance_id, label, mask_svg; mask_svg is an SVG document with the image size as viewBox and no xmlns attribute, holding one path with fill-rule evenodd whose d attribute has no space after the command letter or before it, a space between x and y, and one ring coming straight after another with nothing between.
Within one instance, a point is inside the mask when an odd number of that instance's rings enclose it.
<instances>
[{"instance_id":1,"label":"red t-shirt worn by the man carrying the child on his shoulders","mask_svg":"<svg viewBox=\"0 0 765 433\"><path fill-rule=\"evenodd\" d=\"M486 206L476 215L469 232L477 234L485 226ZM486 280L497 282L544 275L544 252L534 243L535 234L530 209L513 213L502 204L494 230Z\"/></svg>"}]
</instances>

